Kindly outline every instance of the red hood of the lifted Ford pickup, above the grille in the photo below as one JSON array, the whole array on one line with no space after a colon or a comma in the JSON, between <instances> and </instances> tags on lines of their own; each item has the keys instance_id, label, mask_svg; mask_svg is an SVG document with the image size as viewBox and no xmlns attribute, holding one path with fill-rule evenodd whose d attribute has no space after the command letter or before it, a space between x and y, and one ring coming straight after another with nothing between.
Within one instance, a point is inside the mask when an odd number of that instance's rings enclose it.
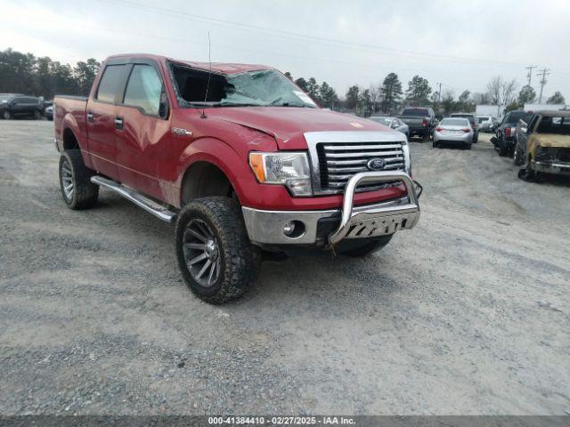
<instances>
[{"instance_id":1,"label":"red hood of the lifted Ford pickup, above the grille","mask_svg":"<svg viewBox=\"0 0 570 427\"><path fill-rule=\"evenodd\" d=\"M232 107L208 109L211 119L242 125L266 133L279 149L306 149L304 133L324 131L394 132L384 125L328 109L296 107Z\"/></svg>"}]
</instances>

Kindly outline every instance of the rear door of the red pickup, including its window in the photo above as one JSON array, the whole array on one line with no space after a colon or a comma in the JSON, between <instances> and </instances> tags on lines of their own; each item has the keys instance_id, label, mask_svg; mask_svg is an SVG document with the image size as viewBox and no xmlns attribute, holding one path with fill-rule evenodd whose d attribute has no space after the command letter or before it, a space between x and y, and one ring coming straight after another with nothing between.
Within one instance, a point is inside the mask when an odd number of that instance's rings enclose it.
<instances>
[{"instance_id":1,"label":"rear door of the red pickup, including its window","mask_svg":"<svg viewBox=\"0 0 570 427\"><path fill-rule=\"evenodd\" d=\"M126 64L106 64L97 89L87 102L88 150L94 169L113 179L118 179L115 109L125 85L127 68Z\"/></svg>"}]
</instances>

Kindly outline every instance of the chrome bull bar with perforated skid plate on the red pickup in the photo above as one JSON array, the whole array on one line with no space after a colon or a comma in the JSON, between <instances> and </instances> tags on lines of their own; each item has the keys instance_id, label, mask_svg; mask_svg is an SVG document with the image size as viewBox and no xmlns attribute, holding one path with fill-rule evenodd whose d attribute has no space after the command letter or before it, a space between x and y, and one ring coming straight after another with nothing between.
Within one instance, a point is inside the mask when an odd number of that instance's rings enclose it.
<instances>
[{"instance_id":1,"label":"chrome bull bar with perforated skid plate on the red pickup","mask_svg":"<svg viewBox=\"0 0 570 427\"><path fill-rule=\"evenodd\" d=\"M408 193L408 203L385 207L353 206L354 190L361 183L402 181ZM329 236L329 246L343 238L367 238L392 234L396 230L410 230L419 221L419 203L410 175L404 172L356 173L346 183L338 229Z\"/></svg>"}]
</instances>

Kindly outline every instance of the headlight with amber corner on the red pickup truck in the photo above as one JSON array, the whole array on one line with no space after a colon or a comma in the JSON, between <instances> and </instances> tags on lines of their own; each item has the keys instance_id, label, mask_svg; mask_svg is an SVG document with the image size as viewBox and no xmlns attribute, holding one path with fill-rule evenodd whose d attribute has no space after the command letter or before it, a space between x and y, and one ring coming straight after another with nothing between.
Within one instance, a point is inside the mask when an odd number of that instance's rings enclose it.
<instances>
[{"instance_id":1,"label":"headlight with amber corner on the red pickup truck","mask_svg":"<svg viewBox=\"0 0 570 427\"><path fill-rule=\"evenodd\" d=\"M249 165L262 184L286 185L294 196L311 196L311 170L305 152L249 153Z\"/></svg>"}]
</instances>

